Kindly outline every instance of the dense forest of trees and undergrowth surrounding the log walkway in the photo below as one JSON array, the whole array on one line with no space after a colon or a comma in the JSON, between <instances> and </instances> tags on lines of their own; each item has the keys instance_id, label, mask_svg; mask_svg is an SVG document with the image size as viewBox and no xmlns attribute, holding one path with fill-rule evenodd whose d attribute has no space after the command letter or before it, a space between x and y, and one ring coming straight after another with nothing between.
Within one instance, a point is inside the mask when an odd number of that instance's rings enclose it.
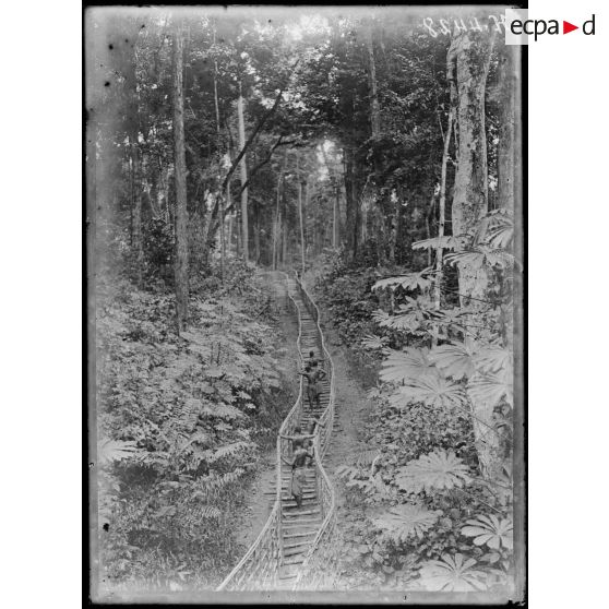
<instances>
[{"instance_id":1,"label":"dense forest of trees and undergrowth surrounding the log walkway","mask_svg":"<svg viewBox=\"0 0 609 609\"><path fill-rule=\"evenodd\" d=\"M99 594L213 590L258 535L299 383L279 272L319 307L337 417L361 406L330 449L327 586L518 594L521 58L501 12L87 10Z\"/></svg>"}]
</instances>

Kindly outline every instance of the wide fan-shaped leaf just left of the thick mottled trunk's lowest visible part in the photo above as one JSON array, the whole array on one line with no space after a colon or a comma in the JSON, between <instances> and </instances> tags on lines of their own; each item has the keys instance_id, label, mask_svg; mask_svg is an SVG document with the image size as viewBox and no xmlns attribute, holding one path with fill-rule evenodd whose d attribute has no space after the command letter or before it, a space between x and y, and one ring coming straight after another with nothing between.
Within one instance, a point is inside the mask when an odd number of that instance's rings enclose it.
<instances>
[{"instance_id":1,"label":"wide fan-shaped leaf just left of the thick mottled trunk's lowest visible part","mask_svg":"<svg viewBox=\"0 0 609 609\"><path fill-rule=\"evenodd\" d=\"M408 492L464 487L471 481L469 468L453 452L437 451L398 469L397 486Z\"/></svg>"}]
</instances>

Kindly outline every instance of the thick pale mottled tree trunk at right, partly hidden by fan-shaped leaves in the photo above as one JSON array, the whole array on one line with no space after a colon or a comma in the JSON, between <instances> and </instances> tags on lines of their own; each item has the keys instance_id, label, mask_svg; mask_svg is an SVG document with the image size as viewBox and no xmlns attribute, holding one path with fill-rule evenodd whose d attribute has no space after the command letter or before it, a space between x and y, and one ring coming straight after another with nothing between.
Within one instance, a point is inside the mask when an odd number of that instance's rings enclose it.
<instances>
[{"instance_id":1,"label":"thick pale mottled tree trunk at right, partly hidden by fan-shaped leaves","mask_svg":"<svg viewBox=\"0 0 609 609\"><path fill-rule=\"evenodd\" d=\"M465 248L474 244L479 222L488 211L485 89L492 43L488 33L461 32L449 50L449 81L456 83L458 123L452 227L453 235L466 238ZM483 265L477 268L468 263L458 264L459 298L462 306L474 311L471 318L483 307L488 283ZM469 336L471 333L466 334L466 342ZM483 476L492 476L501 463L499 438L492 427L494 404L473 396L470 402L480 469Z\"/></svg>"}]
</instances>

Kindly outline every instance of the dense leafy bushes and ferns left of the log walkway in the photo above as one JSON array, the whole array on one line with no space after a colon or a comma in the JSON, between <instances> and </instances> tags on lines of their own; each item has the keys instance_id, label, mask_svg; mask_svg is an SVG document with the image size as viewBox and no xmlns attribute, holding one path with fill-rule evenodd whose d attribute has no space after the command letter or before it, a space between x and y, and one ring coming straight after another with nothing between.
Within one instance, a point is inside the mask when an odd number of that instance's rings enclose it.
<instances>
[{"instance_id":1,"label":"dense leafy bushes and ferns left of the log walkway","mask_svg":"<svg viewBox=\"0 0 609 609\"><path fill-rule=\"evenodd\" d=\"M98 295L100 562L112 589L208 587L243 551L238 506L291 398L272 303L251 267L228 273L222 289L214 274L198 282L180 336L169 294L117 280Z\"/></svg>"}]
</instances>

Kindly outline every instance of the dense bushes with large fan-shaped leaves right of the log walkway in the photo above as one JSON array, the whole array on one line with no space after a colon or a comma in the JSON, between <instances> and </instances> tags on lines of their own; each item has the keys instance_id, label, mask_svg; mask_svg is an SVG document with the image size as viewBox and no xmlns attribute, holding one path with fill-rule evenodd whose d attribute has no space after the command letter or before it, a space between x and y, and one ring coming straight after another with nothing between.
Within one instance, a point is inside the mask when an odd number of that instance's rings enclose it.
<instances>
[{"instance_id":1,"label":"dense bushes with large fan-shaped leaves right of the log walkway","mask_svg":"<svg viewBox=\"0 0 609 609\"><path fill-rule=\"evenodd\" d=\"M371 450L336 471L347 499L338 517L337 585L505 592L513 541L511 406L500 379L510 374L511 354L499 339L502 302L477 313L486 334L464 345L470 313L455 307L454 272L447 270L447 294L437 309L429 271L356 268L339 258L318 271L317 290L358 351L351 363L374 402L363 438ZM390 273L398 276L381 278ZM502 464L501 473L485 477L473 427L480 421L468 407L470 392L482 390L498 402L489 425L501 439Z\"/></svg>"}]
</instances>

